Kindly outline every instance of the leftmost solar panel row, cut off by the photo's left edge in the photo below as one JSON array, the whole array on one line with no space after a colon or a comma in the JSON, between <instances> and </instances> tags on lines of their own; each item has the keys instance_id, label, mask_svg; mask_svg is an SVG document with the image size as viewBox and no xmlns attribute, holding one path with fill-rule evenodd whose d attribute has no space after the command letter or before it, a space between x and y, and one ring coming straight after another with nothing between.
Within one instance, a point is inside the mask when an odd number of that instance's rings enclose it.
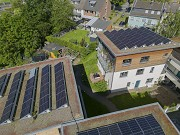
<instances>
[{"instance_id":1,"label":"leftmost solar panel row, cut off by the photo's left edge","mask_svg":"<svg viewBox=\"0 0 180 135\"><path fill-rule=\"evenodd\" d=\"M3 96L11 74L5 74L0 78L0 97Z\"/></svg>"}]
</instances>

